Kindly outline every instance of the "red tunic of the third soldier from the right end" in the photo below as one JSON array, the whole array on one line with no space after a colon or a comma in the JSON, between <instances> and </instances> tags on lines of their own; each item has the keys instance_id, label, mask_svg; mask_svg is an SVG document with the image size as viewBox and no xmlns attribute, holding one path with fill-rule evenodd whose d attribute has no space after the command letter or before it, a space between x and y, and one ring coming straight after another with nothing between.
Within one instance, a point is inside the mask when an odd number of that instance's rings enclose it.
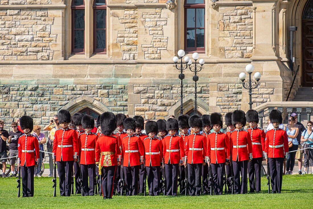
<instances>
[{"instance_id":1,"label":"red tunic of the third soldier from the right end","mask_svg":"<svg viewBox=\"0 0 313 209\"><path fill-rule=\"evenodd\" d=\"M251 136L247 130L234 130L230 133L230 147L232 147L232 160L244 161L252 159Z\"/></svg>"}]
</instances>

